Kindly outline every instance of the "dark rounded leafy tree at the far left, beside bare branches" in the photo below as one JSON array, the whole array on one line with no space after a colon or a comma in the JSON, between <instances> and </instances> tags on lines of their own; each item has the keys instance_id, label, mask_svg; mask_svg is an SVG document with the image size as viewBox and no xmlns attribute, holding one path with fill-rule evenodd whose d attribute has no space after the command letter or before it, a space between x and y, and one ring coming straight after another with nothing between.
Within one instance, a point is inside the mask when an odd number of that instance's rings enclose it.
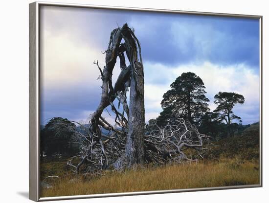
<instances>
[{"instance_id":1,"label":"dark rounded leafy tree at the far left, beside bare branches","mask_svg":"<svg viewBox=\"0 0 269 203\"><path fill-rule=\"evenodd\" d=\"M78 151L78 145L72 143L75 128L67 119L52 118L41 130L41 153L47 156L75 154Z\"/></svg>"}]
</instances>

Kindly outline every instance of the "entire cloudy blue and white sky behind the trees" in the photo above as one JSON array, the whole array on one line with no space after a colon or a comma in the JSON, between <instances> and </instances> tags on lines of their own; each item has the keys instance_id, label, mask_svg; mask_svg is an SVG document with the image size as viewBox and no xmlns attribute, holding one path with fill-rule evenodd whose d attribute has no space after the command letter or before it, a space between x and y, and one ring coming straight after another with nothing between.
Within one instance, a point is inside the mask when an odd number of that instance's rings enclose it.
<instances>
[{"instance_id":1,"label":"entire cloudy blue and white sky behind the trees","mask_svg":"<svg viewBox=\"0 0 269 203\"><path fill-rule=\"evenodd\" d=\"M126 22L141 44L146 122L159 115L163 94L185 72L201 77L211 111L215 94L236 92L245 104L234 113L244 125L259 121L258 19L54 6L40 12L43 125L56 116L87 121L96 110L102 81L93 62L105 66L110 33ZM113 82L119 73L118 60ZM103 116L112 122L108 111Z\"/></svg>"}]
</instances>

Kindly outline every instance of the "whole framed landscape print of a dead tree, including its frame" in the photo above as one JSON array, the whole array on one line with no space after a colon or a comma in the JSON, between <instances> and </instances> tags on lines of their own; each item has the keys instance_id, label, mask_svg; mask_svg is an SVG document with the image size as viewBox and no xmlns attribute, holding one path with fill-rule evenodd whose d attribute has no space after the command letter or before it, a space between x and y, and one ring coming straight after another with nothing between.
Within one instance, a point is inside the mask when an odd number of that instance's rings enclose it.
<instances>
[{"instance_id":1,"label":"whole framed landscape print of a dead tree, including its frame","mask_svg":"<svg viewBox=\"0 0 269 203\"><path fill-rule=\"evenodd\" d=\"M29 198L262 186L262 16L29 4Z\"/></svg>"}]
</instances>

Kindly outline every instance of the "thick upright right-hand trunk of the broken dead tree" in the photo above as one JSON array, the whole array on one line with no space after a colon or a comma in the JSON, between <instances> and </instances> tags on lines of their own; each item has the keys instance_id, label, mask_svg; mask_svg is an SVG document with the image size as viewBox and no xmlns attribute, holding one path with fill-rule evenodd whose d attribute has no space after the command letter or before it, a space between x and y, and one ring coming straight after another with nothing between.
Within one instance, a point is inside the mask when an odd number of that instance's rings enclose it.
<instances>
[{"instance_id":1,"label":"thick upright right-hand trunk of the broken dead tree","mask_svg":"<svg viewBox=\"0 0 269 203\"><path fill-rule=\"evenodd\" d=\"M124 155L114 164L115 168L122 169L136 164L143 164L144 155L144 126L145 126L145 107L144 107L144 71L140 52L140 45L134 33L128 29L123 30L126 54L131 65L131 86L130 103L128 117L128 136ZM138 53L137 46L139 49Z\"/></svg>"}]
</instances>

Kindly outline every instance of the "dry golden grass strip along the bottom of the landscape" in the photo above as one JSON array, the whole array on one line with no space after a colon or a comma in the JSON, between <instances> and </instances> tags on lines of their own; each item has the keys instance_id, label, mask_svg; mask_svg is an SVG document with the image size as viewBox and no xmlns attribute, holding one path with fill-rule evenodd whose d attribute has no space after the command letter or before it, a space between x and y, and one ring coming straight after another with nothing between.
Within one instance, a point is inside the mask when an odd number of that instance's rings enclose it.
<instances>
[{"instance_id":1,"label":"dry golden grass strip along the bottom of the landscape","mask_svg":"<svg viewBox=\"0 0 269 203\"><path fill-rule=\"evenodd\" d=\"M259 184L257 161L220 159L183 165L106 171L102 176L60 175L42 197ZM57 174L55 174L57 175Z\"/></svg>"}]
</instances>

